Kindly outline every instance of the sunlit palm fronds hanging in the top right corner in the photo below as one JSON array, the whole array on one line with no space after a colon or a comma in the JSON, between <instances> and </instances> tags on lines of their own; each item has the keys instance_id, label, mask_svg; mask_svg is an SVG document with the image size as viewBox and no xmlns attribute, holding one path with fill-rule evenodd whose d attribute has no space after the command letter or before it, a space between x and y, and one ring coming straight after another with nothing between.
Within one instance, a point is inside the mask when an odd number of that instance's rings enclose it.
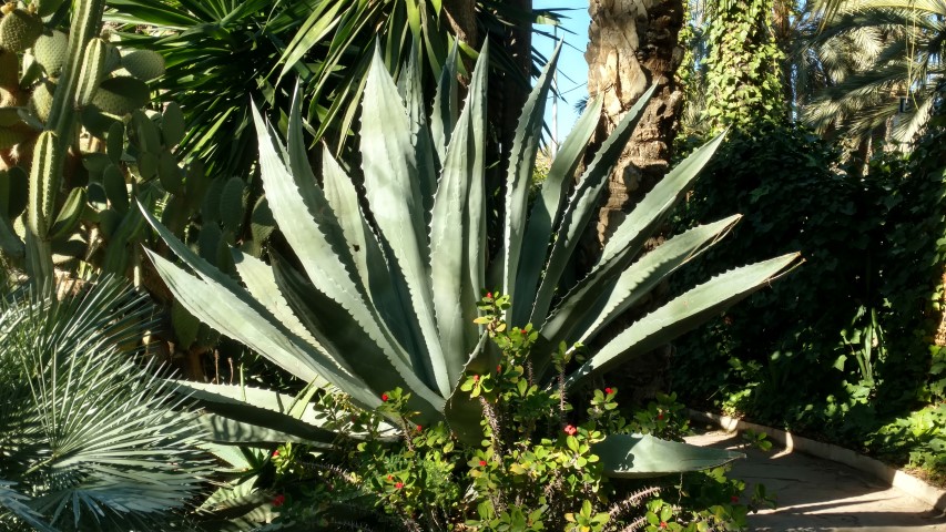
<instances>
[{"instance_id":1,"label":"sunlit palm fronds hanging in the top right corner","mask_svg":"<svg viewBox=\"0 0 946 532\"><path fill-rule=\"evenodd\" d=\"M824 9L830 17L812 43L827 86L805 120L862 144L872 136L914 140L942 99L946 2L827 1Z\"/></svg>"}]
</instances>

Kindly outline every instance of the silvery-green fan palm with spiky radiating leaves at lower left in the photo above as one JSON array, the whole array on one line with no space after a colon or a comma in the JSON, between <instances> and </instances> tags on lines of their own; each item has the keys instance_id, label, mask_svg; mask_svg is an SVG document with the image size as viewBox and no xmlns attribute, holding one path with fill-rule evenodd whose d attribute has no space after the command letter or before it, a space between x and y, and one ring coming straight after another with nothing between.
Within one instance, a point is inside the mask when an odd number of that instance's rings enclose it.
<instances>
[{"instance_id":1,"label":"silvery-green fan palm with spiky radiating leaves at lower left","mask_svg":"<svg viewBox=\"0 0 946 532\"><path fill-rule=\"evenodd\" d=\"M193 416L135 357L153 306L114 279L83 290L0 300L2 530L155 530L204 489Z\"/></svg>"}]
</instances>

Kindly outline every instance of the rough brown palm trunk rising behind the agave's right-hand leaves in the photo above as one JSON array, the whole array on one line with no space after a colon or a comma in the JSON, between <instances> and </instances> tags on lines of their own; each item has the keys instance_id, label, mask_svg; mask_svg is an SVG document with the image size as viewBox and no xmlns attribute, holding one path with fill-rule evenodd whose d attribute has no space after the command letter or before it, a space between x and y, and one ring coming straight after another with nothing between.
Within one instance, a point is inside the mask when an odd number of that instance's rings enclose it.
<instances>
[{"instance_id":1,"label":"rough brown palm trunk rising behind the agave's right-hand leaves","mask_svg":"<svg viewBox=\"0 0 946 532\"><path fill-rule=\"evenodd\" d=\"M596 140L606 139L641 94L651 85L658 86L609 177L594 235L600 245L670 166L683 106L683 92L674 74L683 58L679 35L684 6L682 0L591 0L589 12L588 93L604 98ZM658 245L660 238L652 241L649 246ZM629 310L629 317L655 308L665 299L660 291L665 289L655 290L657 298ZM629 323L627 318L619 320L610 334ZM633 371L622 371L616 378L630 389L633 399L653 397L665 388L670 352L670 346L657 349L641 357Z\"/></svg>"}]
</instances>

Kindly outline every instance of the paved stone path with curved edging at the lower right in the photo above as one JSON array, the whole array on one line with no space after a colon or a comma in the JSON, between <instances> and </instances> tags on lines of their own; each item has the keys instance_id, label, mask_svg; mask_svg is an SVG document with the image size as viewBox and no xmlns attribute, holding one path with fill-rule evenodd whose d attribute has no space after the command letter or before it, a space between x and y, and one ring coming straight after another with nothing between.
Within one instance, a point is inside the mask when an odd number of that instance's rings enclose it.
<instances>
[{"instance_id":1,"label":"paved stone path with curved edging at the lower right","mask_svg":"<svg viewBox=\"0 0 946 532\"><path fill-rule=\"evenodd\" d=\"M946 515L896 488L847 466L773 447L741 449L738 433L711 431L686 438L701 447L739 449L732 475L751 493L763 483L775 510L750 515L751 530L772 532L946 532Z\"/></svg>"}]
</instances>

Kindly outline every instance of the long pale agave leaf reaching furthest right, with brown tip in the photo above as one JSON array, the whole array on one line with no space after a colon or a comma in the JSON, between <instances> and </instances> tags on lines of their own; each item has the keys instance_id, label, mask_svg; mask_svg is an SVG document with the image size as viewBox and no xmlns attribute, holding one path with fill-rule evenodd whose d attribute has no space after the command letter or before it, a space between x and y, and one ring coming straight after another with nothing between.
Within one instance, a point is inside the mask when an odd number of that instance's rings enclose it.
<instances>
[{"instance_id":1,"label":"long pale agave leaf reaching furthest right, with brown tip","mask_svg":"<svg viewBox=\"0 0 946 532\"><path fill-rule=\"evenodd\" d=\"M791 253L713 277L642 317L604 345L566 379L567 387L654 349L757 290L797 265Z\"/></svg>"}]
</instances>

